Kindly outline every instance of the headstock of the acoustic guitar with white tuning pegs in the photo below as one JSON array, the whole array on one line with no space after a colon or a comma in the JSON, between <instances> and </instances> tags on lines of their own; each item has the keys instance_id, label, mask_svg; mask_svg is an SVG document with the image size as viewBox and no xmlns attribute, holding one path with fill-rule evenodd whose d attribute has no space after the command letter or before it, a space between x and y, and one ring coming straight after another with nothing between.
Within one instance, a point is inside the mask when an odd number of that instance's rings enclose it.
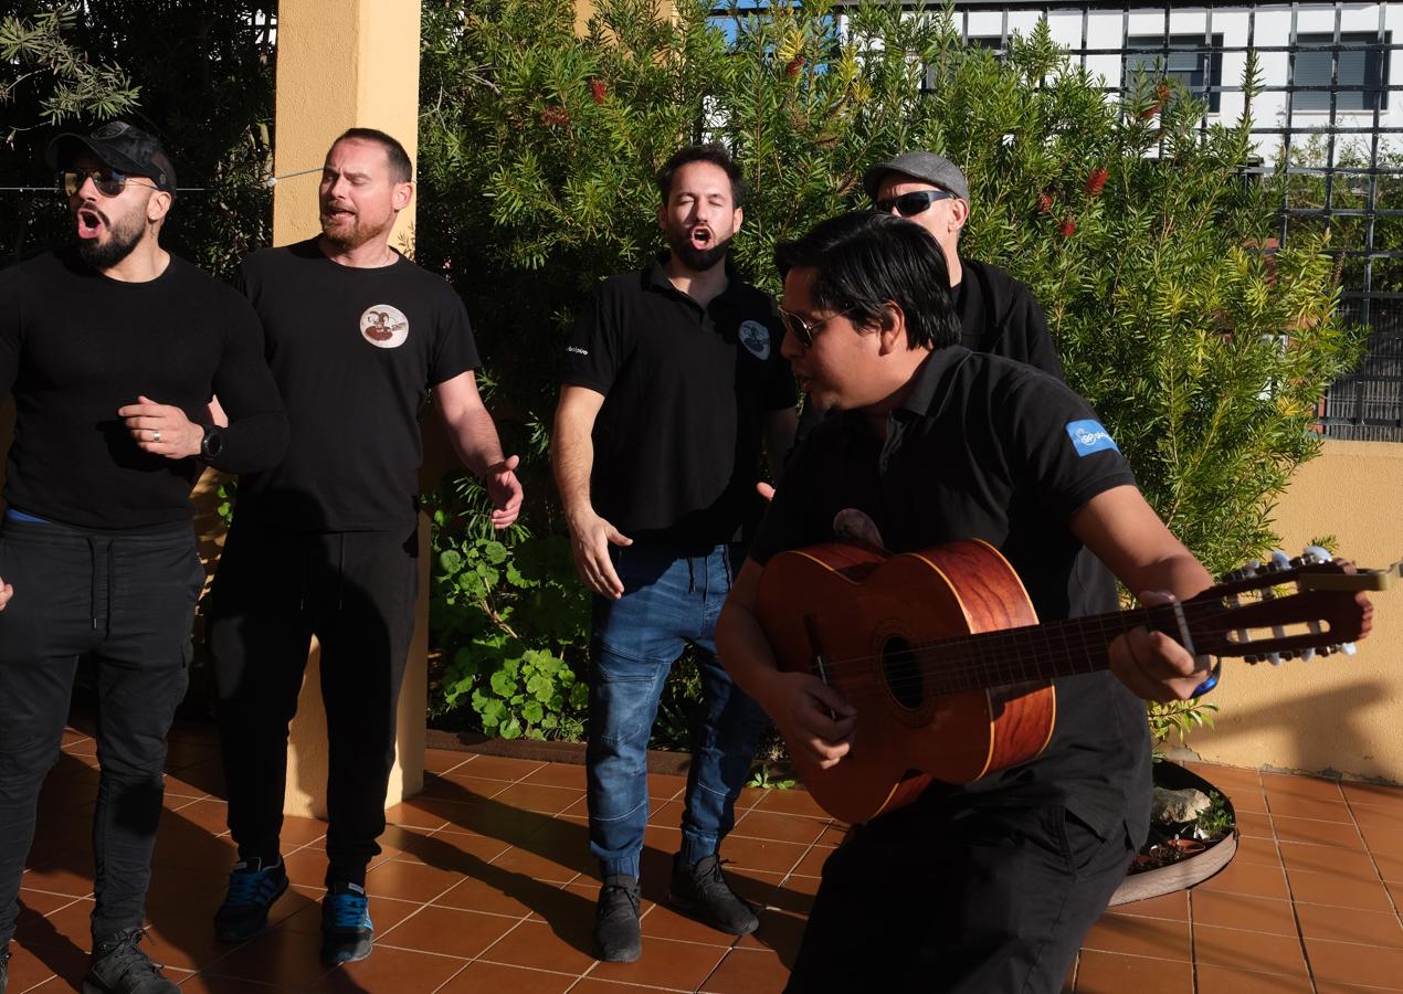
<instances>
[{"instance_id":1,"label":"headstock of the acoustic guitar with white tuning pegs","mask_svg":"<svg viewBox=\"0 0 1403 994\"><path fill-rule=\"evenodd\" d=\"M1249 663L1354 653L1369 634L1374 606L1365 590L1383 590L1403 565L1360 571L1312 545L1295 559L1273 552L1235 569L1184 601L1194 651L1242 656Z\"/></svg>"}]
</instances>

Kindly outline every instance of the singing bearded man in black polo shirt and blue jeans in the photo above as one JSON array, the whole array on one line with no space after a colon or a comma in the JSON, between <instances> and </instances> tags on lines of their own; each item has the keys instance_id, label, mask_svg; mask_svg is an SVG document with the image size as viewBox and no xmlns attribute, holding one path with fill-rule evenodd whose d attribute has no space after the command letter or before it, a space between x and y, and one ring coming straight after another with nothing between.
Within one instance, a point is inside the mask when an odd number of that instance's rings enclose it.
<instances>
[{"instance_id":1,"label":"singing bearded man in black polo shirt and blue jeans","mask_svg":"<svg viewBox=\"0 0 1403 994\"><path fill-rule=\"evenodd\" d=\"M634 960L647 744L658 697L696 649L706 725L687 777L671 900L721 931L759 924L721 875L766 719L716 660L731 544L759 519L762 436L772 463L794 432L794 380L774 303L724 265L741 227L741 172L693 146L658 175L671 252L606 280L565 350L551 460L581 576L595 592L589 679L589 845L603 887L606 960Z\"/></svg>"}]
</instances>

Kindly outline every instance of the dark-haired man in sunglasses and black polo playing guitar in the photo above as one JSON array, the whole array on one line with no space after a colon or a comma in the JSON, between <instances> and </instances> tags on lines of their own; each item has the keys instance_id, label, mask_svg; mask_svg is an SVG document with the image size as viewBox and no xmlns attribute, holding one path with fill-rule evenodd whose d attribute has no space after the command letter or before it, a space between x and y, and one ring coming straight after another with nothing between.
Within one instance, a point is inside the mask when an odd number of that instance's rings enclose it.
<instances>
[{"instance_id":1,"label":"dark-haired man in sunglasses and black polo playing guitar","mask_svg":"<svg viewBox=\"0 0 1403 994\"><path fill-rule=\"evenodd\" d=\"M777 670L755 615L765 564L832 541L839 512L866 516L897 552L991 543L1042 621L1115 610L1108 582L1078 580L1083 545L1145 601L1208 586L1082 398L955 343L944 259L916 226L845 215L777 257L784 353L836 411L786 470L717 644L791 749L829 767L861 743L853 704L818 677ZM1117 639L1111 659L1114 676L1055 681L1056 728L1037 758L968 787L936 784L839 847L791 991L1061 990L1148 827L1136 695L1188 697L1204 681L1183 648L1143 629Z\"/></svg>"}]
</instances>

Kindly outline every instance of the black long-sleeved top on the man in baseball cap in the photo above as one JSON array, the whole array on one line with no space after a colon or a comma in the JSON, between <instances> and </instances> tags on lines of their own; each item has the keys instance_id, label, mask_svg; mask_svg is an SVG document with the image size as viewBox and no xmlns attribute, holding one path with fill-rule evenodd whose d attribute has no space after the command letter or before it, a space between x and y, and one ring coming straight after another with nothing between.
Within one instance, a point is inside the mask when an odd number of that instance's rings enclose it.
<instances>
[{"instance_id":1,"label":"black long-sleeved top on the man in baseball cap","mask_svg":"<svg viewBox=\"0 0 1403 994\"><path fill-rule=\"evenodd\" d=\"M73 250L0 272L0 398L15 433L6 502L81 529L147 529L189 520L194 458L137 449L116 409L139 395L209 423L213 394L231 423L222 470L272 464L288 419L262 360L253 308L188 262L123 283Z\"/></svg>"}]
</instances>

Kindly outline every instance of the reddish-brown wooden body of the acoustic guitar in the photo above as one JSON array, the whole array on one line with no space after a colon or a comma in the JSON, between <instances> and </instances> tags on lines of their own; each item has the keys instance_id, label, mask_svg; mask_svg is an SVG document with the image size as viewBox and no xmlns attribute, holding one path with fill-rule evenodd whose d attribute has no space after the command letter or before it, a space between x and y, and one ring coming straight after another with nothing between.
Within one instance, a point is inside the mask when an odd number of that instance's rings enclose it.
<instances>
[{"instance_id":1,"label":"reddish-brown wooden body of the acoustic guitar","mask_svg":"<svg viewBox=\"0 0 1403 994\"><path fill-rule=\"evenodd\" d=\"M857 709L853 749L821 770L790 750L814 799L850 823L1037 756L1052 735L1048 680L932 693L943 660L909 646L1038 624L1023 582L986 543L890 555L831 543L765 566L758 615L780 669L812 673Z\"/></svg>"}]
</instances>

